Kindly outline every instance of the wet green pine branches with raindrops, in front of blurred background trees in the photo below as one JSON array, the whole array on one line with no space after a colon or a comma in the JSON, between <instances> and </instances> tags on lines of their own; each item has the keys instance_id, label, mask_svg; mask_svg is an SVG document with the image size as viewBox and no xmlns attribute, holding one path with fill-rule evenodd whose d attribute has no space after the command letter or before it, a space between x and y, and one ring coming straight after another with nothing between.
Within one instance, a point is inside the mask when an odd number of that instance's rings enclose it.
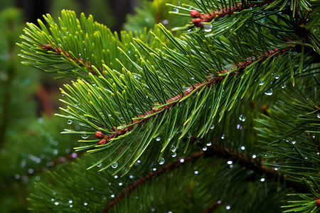
<instances>
[{"instance_id":1,"label":"wet green pine branches with raindrops, in front of blurred background trees","mask_svg":"<svg viewBox=\"0 0 320 213\"><path fill-rule=\"evenodd\" d=\"M75 176L68 176L63 171L53 173L50 181L55 184L52 187L40 184L38 190L46 194L49 188L56 188L60 200L50 202L48 195L38 197L34 194L32 208L59 212L60 208L72 206L72 210L84 205L89 211L105 207L107 212L132 212L136 210L134 207L149 211L152 207L147 206L152 204L159 212L183 212L178 209L181 206L185 208L184 212L195 212L193 207L198 211L213 208L204 204L206 199L212 200L213 204L222 199L223 194L227 200L234 200L241 192L247 194L249 192L245 190L253 190L252 196L247 197L252 200L247 201L247 207L240 206L239 202L232 204L238 209L235 211L248 208L243 211L257 212L257 208L274 203L272 198L263 200L263 205L252 199L264 194L260 184L268 176L270 187L266 186L265 197L269 197L268 193L276 193L279 197L287 193L287 189L280 187L278 190L279 186L274 186L274 182L303 193L288 198L295 200L289 201L294 204L288 204L285 212L319 211L319 192L316 190L319 184L319 2L212 0L169 6L177 15L193 17L190 22L174 28L184 31L181 35L173 35L161 23L151 31L118 35L94 22L92 16L86 18L81 14L78 19L72 11L62 11L58 23L47 14L44 16L46 24L38 21L40 28L28 23L21 35L23 42L19 44L21 57L27 60L24 64L75 79L72 85L66 84L61 89L64 96L61 101L67 107L61 109L63 113L58 116L82 127L80 131L67 129L63 132L81 134L83 140L79 142L82 146L75 149L95 153L92 162L79 161L71 165L73 172L68 173L81 176L80 169L76 169L78 166L97 166L114 186L114 189L108 187L111 195L99 192L101 188L97 187L94 194L97 197L90 197L90 203L83 200L84 194L80 195L84 189L74 186L71 189L78 191L73 197L79 197L79 201L70 205L67 202L70 198L65 195L70 193L68 187L74 184L66 180ZM286 84L292 89L279 95L281 86ZM275 102L277 98L279 101ZM272 107L266 111L263 104L268 102ZM257 109L260 108L265 116L253 124L252 119L257 118ZM244 111L251 122L242 129L236 122L239 112ZM245 121L244 114L239 119ZM233 131L231 124L239 131ZM252 132L252 125L256 125L257 136ZM257 138L260 143L256 143ZM213 158L238 160L245 169L254 168L252 171L262 177L255 176L250 182L247 180L250 175L237 175L241 166L235 165L233 171L228 172L228 166L218 166L223 162L219 159L196 160L195 165L181 165L172 173L169 171L152 179L150 185L144 185L146 180L153 178L154 173L147 176L146 171L156 161L162 165L172 153L179 157L193 156L197 151L193 144L197 140L200 148L204 147L203 151L215 153ZM258 144L260 146L256 147ZM138 161L144 162L142 168L145 170L134 168ZM170 168L171 160L166 162L163 170ZM212 162L215 162L214 166L210 166ZM201 170L199 174L203 174L197 176L199 179L193 174L191 179L186 178L183 182L181 174L186 173L187 177L191 170L200 170L201 163L212 170ZM118 173L122 175L121 181L127 190L118 187L120 179L112 178ZM128 178L131 173L137 183ZM211 182L214 178L208 177L207 173L219 173L217 180L223 184L229 181L231 187L222 190L221 184L216 190L218 197L215 193L201 191L201 187L207 189L215 185ZM190 193L196 197L191 196L184 203L181 202L186 197L181 197L173 205L166 206L169 209L162 209L162 203L154 203L154 200L164 200L166 204L172 201L164 196L168 192L162 189L161 183L170 174L174 177L172 182L177 182L172 185L172 197L183 187L183 190L191 187ZM94 175L92 170L86 175L92 175L85 178L89 182L100 179L93 178L97 173ZM82 182L79 184L87 185L85 180L79 180ZM97 184L99 181L105 180L92 181L91 184L106 185L106 182ZM292 184L285 185L286 181ZM199 182L203 185L196 187ZM240 187L241 182L246 182L249 187ZM136 190L140 184L142 186ZM149 188L152 188L151 200L144 197L141 204L139 199L134 199L135 196L143 197ZM239 190L233 191L235 188ZM197 197L201 193L206 194L202 200ZM102 201L103 196L107 196L107 201ZM109 196L114 199L110 200ZM193 199L196 204L190 204ZM230 209L230 206L222 207L219 203L216 206L221 212ZM277 209L277 204L273 207Z\"/></svg>"}]
</instances>

